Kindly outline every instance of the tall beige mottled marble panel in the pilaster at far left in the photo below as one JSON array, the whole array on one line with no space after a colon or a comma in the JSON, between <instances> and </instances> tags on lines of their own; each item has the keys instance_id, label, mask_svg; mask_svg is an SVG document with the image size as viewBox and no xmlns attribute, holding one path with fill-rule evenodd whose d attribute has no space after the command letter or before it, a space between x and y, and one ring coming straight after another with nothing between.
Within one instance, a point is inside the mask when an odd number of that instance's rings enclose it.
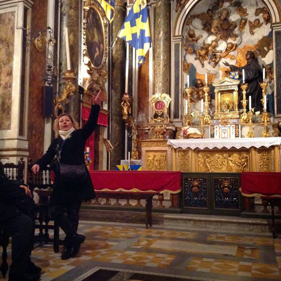
<instances>
[{"instance_id":1,"label":"tall beige mottled marble panel in the pilaster at far left","mask_svg":"<svg viewBox=\"0 0 281 281\"><path fill-rule=\"evenodd\" d=\"M0 130L11 129L15 11L0 14Z\"/></svg>"}]
</instances>

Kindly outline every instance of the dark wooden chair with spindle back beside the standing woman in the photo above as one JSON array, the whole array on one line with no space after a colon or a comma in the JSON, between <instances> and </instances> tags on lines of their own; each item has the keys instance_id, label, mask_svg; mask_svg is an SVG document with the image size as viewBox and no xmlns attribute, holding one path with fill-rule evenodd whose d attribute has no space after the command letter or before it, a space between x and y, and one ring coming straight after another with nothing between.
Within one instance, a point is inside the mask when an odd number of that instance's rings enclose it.
<instances>
[{"instance_id":1,"label":"dark wooden chair with spindle back beside the standing woman","mask_svg":"<svg viewBox=\"0 0 281 281\"><path fill-rule=\"evenodd\" d=\"M51 170L49 167L45 167L37 175L34 175L31 171L33 164L31 163L31 159L28 160L29 189L36 192L39 196L35 212L35 220L38 220L39 222L39 224L35 224L35 229L39 229L39 234L35 235L35 242L52 242L54 243L54 252L58 253L60 244L59 225L56 221L54 221L54 225L49 225L51 220L49 217L49 196L52 194L53 188ZM54 230L54 238L49 238L49 229Z\"/></svg>"}]
</instances>

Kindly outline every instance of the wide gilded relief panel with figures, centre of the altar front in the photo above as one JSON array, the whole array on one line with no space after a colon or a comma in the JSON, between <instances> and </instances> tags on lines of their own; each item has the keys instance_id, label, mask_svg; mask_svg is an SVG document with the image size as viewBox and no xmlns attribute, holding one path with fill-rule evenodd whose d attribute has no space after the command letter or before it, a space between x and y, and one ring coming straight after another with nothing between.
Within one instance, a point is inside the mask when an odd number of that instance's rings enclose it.
<instances>
[{"instance_id":1,"label":"wide gilded relief panel with figures, centre of the altar front","mask_svg":"<svg viewBox=\"0 0 281 281\"><path fill-rule=\"evenodd\" d=\"M248 172L249 151L198 151L196 172Z\"/></svg>"}]
</instances>

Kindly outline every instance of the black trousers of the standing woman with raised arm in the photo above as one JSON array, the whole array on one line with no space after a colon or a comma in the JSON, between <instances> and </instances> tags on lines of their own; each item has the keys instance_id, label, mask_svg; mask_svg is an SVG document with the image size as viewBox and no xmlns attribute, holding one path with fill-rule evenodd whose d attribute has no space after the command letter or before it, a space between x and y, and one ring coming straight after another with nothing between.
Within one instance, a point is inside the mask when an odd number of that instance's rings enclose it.
<instances>
[{"instance_id":1,"label":"black trousers of the standing woman with raised arm","mask_svg":"<svg viewBox=\"0 0 281 281\"><path fill-rule=\"evenodd\" d=\"M56 220L66 234L66 242L77 233L81 203L82 198L78 198L68 204L49 206L50 217Z\"/></svg>"}]
</instances>

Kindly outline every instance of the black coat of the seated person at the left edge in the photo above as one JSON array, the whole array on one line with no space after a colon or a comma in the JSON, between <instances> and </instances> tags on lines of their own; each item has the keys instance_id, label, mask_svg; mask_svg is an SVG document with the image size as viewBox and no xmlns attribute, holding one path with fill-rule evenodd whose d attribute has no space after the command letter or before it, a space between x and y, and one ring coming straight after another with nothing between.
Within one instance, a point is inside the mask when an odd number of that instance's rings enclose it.
<instances>
[{"instance_id":1,"label":"black coat of the seated person at the left edge","mask_svg":"<svg viewBox=\"0 0 281 281\"><path fill-rule=\"evenodd\" d=\"M0 222L20 214L16 204L27 196L22 184L0 175Z\"/></svg>"}]
</instances>

